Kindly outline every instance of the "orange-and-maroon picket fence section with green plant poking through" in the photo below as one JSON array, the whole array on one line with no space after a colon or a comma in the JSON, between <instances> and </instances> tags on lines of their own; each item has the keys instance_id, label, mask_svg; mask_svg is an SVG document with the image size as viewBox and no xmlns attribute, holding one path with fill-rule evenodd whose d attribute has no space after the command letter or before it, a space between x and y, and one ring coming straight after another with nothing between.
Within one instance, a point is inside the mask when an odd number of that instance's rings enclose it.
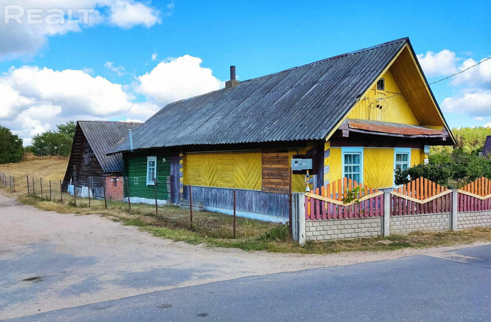
<instances>
[{"instance_id":1,"label":"orange-and-maroon picket fence section with green plant poking through","mask_svg":"<svg viewBox=\"0 0 491 322\"><path fill-rule=\"evenodd\" d=\"M344 202L348 190L359 187L355 200ZM383 216L383 192L348 178L305 194L305 219L342 219Z\"/></svg>"}]
</instances>

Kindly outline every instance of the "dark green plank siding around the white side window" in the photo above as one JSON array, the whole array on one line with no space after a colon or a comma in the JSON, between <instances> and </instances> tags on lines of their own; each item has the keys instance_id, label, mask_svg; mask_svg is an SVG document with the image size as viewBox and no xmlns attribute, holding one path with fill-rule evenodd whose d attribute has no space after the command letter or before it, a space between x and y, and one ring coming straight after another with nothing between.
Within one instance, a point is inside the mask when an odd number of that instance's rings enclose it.
<instances>
[{"instance_id":1,"label":"dark green plank siding around the white side window","mask_svg":"<svg viewBox=\"0 0 491 322\"><path fill-rule=\"evenodd\" d=\"M128 177L129 189L124 190L125 198L155 198L155 187L147 186L147 156L157 156L157 199L170 201L170 155L161 153L124 153L124 169L125 177ZM165 158L165 162L162 159ZM138 178L138 184L135 184L135 177ZM125 182L126 185L126 182Z\"/></svg>"}]
</instances>

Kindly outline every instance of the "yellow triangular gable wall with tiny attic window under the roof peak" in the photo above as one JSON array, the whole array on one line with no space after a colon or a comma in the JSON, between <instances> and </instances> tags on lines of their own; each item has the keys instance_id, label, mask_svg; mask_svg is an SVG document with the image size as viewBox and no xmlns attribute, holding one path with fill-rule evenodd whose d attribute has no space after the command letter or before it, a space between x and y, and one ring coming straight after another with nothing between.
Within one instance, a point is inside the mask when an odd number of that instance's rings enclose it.
<instances>
[{"instance_id":1,"label":"yellow triangular gable wall with tiny attic window under the roof peak","mask_svg":"<svg viewBox=\"0 0 491 322\"><path fill-rule=\"evenodd\" d=\"M383 74L382 78L385 79L385 91L377 91L377 87L374 86L367 95L369 99L361 99L348 114L348 119L419 125L403 95L383 100L383 98L401 93L401 90L399 89L399 86L397 86L390 70ZM379 102L377 99L382 100ZM377 104L381 104L382 109L376 108L375 106Z\"/></svg>"}]
</instances>

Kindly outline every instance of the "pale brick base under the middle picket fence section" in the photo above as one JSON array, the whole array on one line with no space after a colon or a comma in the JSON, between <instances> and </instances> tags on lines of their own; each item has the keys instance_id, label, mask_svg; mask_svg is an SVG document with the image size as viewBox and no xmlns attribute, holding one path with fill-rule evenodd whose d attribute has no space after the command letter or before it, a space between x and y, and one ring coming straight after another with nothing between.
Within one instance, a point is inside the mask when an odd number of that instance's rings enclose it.
<instances>
[{"instance_id":1,"label":"pale brick base under the middle picket fence section","mask_svg":"<svg viewBox=\"0 0 491 322\"><path fill-rule=\"evenodd\" d=\"M390 217L391 234L442 230L450 230L450 213Z\"/></svg>"}]
</instances>

